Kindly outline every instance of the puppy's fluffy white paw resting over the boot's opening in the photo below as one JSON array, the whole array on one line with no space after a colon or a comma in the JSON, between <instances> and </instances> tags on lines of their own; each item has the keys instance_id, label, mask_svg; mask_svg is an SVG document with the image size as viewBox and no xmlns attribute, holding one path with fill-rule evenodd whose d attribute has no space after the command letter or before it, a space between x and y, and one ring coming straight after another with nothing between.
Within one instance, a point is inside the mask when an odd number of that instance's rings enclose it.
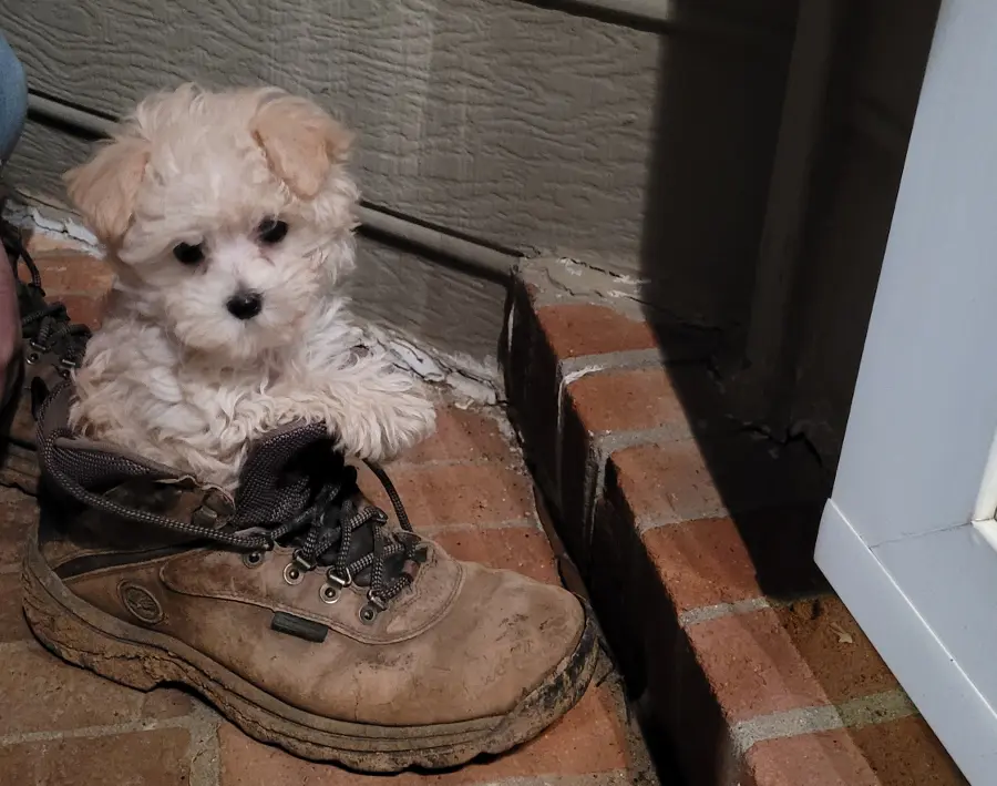
<instances>
[{"instance_id":1,"label":"puppy's fluffy white paw resting over the boot's opening","mask_svg":"<svg viewBox=\"0 0 997 786\"><path fill-rule=\"evenodd\" d=\"M388 461L429 437L435 423L436 410L424 396L386 394L336 425L337 447L360 459Z\"/></svg>"}]
</instances>

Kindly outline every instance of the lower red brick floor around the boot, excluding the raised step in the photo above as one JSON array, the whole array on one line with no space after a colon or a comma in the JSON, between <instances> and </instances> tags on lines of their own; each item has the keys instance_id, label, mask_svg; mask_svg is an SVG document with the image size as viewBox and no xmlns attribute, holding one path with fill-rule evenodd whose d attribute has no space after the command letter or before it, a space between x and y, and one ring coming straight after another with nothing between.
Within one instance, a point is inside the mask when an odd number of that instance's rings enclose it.
<instances>
[{"instance_id":1,"label":"lower red brick floor around the boot, excluding the raised step","mask_svg":"<svg viewBox=\"0 0 997 786\"><path fill-rule=\"evenodd\" d=\"M40 244L50 295L72 300L71 316L99 321L107 270L96 261ZM441 404L435 437L389 468L415 527L461 559L558 581L537 519L532 480L497 408ZM373 482L371 482L373 481ZM377 481L361 483L381 504ZM20 612L19 562L34 500L0 487L0 783L47 786L236 786L383 782L299 761L261 745L199 700L172 690L148 694L110 683L44 652ZM393 783L625 786L657 778L608 662L599 684L536 741L505 756L442 775Z\"/></svg>"}]
</instances>

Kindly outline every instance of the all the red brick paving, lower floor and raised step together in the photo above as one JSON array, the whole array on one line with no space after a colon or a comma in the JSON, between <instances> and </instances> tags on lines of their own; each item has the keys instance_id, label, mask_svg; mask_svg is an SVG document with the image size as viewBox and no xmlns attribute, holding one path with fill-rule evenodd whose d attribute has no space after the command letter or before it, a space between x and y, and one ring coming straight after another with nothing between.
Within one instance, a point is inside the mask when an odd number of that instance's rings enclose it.
<instances>
[{"instance_id":1,"label":"all the red brick paving, lower floor and raised step together","mask_svg":"<svg viewBox=\"0 0 997 786\"><path fill-rule=\"evenodd\" d=\"M106 272L51 247L39 256L49 292L76 298L95 323ZM514 292L505 358L533 478L498 410L442 405L439 435L390 470L417 527L460 558L543 581L571 563L647 728L676 747L689 784L964 784L812 565L820 473L794 446L703 420L699 405L722 392L695 353L662 349L682 359L662 367L654 331L631 314L539 294L528 280ZM585 335L586 325L598 330ZM553 548L534 479L557 530ZM18 611L33 516L33 500L0 489L0 782L374 779L255 743L186 695L135 694L44 653ZM506 756L395 779L654 783L620 684L608 673L561 723Z\"/></svg>"}]
</instances>

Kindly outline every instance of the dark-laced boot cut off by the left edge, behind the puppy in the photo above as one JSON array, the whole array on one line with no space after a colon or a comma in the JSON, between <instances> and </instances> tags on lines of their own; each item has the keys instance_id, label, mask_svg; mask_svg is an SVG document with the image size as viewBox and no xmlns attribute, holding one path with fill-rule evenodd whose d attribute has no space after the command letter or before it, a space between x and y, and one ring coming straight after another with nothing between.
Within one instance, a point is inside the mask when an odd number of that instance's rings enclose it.
<instances>
[{"instance_id":1,"label":"dark-laced boot cut off by the left edge, behind the puppy","mask_svg":"<svg viewBox=\"0 0 997 786\"><path fill-rule=\"evenodd\" d=\"M61 303L45 300L41 276L21 241L20 231L0 221L0 239L17 279L23 346L23 363L10 380L12 395L9 400L0 400L0 486L33 494L39 476L34 441L37 409L49 391L82 360L90 329L73 325ZM18 278L19 265L27 268L29 283Z\"/></svg>"}]
</instances>

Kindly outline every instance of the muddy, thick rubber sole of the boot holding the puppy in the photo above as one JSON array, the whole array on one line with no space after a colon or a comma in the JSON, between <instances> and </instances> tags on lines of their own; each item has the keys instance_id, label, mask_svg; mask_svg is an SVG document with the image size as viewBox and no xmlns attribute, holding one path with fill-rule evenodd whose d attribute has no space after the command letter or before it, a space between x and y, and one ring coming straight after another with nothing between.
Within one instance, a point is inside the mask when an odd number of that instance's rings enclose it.
<instances>
[{"instance_id":1,"label":"muddy, thick rubber sole of the boot holding the puppy","mask_svg":"<svg viewBox=\"0 0 997 786\"><path fill-rule=\"evenodd\" d=\"M24 615L34 635L70 663L140 691L184 685L249 736L318 762L368 773L444 769L532 739L585 693L598 661L595 624L572 652L505 715L426 726L333 721L285 704L183 642L106 614L70 592L45 563L32 531L24 557Z\"/></svg>"}]
</instances>

